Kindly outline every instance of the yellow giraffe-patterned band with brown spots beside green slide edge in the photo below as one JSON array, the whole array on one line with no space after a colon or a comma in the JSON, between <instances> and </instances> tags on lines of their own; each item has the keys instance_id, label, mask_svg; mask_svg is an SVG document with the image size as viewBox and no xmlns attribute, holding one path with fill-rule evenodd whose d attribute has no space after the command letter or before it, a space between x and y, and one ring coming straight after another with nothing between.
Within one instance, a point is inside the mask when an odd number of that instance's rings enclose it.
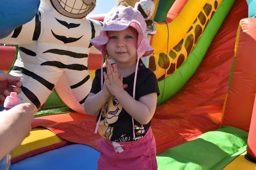
<instances>
[{"instance_id":1,"label":"yellow giraffe-patterned band with brown spots beside green slide edge","mask_svg":"<svg viewBox=\"0 0 256 170\"><path fill-rule=\"evenodd\" d=\"M206 25L218 8L221 0L209 0L195 18L187 31L186 36L168 52L153 54L149 58L149 67L156 74L158 81L163 80L177 71L186 61L187 57L202 36ZM214 7L214 8L213 8ZM166 71L167 70L167 71Z\"/></svg>"}]
</instances>

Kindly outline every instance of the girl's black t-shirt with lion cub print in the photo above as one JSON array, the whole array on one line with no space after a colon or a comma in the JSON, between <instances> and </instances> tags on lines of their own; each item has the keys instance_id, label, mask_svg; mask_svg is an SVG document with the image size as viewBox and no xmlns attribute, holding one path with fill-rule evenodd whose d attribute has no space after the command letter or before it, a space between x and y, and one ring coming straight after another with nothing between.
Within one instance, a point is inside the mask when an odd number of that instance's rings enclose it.
<instances>
[{"instance_id":1,"label":"girl's black t-shirt with lion cub print","mask_svg":"<svg viewBox=\"0 0 256 170\"><path fill-rule=\"evenodd\" d=\"M103 68L106 71L106 68ZM123 84L128 87L125 91L130 96L133 93L135 72L123 78ZM104 77L103 77L104 81ZM92 82L91 93L97 94L101 90L101 69L95 71L95 78ZM158 82L152 70L146 68L142 61L139 61L139 70L137 71L137 80L135 88L135 100L150 93L157 93L159 95ZM131 106L132 107L132 106ZM148 128L148 124L140 124L134 119L135 139L133 139L132 117L125 111L115 96L111 95L107 102L102 107L101 121L98 128L99 134L110 141L127 142L142 138ZM97 119L99 118L99 115Z\"/></svg>"}]
</instances>

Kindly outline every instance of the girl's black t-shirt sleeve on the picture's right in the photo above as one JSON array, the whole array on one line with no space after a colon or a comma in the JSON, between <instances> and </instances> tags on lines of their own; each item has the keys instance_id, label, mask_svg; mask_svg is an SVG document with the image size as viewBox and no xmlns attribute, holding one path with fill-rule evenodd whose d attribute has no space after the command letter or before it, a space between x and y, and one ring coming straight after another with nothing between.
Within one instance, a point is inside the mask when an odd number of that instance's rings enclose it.
<instances>
[{"instance_id":1,"label":"girl's black t-shirt sleeve on the picture's right","mask_svg":"<svg viewBox=\"0 0 256 170\"><path fill-rule=\"evenodd\" d=\"M136 87L138 98L150 93L157 93L157 96L160 94L156 75L152 71L146 73L146 75L147 76L142 74L142 77L138 77L140 80L142 80L140 85Z\"/></svg>"}]
</instances>

